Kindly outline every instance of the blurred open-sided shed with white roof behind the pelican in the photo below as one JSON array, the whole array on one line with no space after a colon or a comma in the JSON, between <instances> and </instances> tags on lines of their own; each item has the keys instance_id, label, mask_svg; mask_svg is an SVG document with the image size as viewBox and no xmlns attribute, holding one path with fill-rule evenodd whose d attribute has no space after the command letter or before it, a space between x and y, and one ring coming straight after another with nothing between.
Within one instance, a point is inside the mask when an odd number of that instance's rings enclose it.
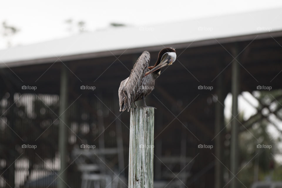
<instances>
[{"instance_id":1,"label":"blurred open-sided shed with white roof behind the pelican","mask_svg":"<svg viewBox=\"0 0 282 188\"><path fill-rule=\"evenodd\" d=\"M69 37L15 45L21 29L3 22L0 187L127 187L117 90L143 51L152 65L171 46L177 60L146 98L154 187L281 187L281 23L282 8L95 31L79 21Z\"/></svg>"}]
</instances>

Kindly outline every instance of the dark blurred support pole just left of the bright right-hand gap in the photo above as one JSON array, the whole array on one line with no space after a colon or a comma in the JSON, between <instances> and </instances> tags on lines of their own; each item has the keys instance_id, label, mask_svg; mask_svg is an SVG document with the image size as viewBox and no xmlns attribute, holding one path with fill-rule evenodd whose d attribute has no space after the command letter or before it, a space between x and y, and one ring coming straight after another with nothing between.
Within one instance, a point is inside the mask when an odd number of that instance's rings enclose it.
<instances>
[{"instance_id":1,"label":"dark blurred support pole just left of the bright right-hand gap","mask_svg":"<svg viewBox=\"0 0 282 188\"><path fill-rule=\"evenodd\" d=\"M214 173L214 187L222 188L223 185L223 172L222 172L222 134L221 130L224 127L224 96L223 96L223 73L219 74L217 78L217 103L215 106L215 130L214 133L217 135L214 139L215 142L215 156L218 160L215 160L215 173Z\"/></svg>"}]
</instances>

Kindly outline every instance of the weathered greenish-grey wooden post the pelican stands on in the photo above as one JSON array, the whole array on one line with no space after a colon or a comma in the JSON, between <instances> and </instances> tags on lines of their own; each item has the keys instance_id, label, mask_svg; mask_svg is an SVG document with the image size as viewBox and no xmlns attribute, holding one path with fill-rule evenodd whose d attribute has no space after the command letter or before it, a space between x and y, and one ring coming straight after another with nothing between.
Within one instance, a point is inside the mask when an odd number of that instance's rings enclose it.
<instances>
[{"instance_id":1,"label":"weathered greenish-grey wooden post the pelican stands on","mask_svg":"<svg viewBox=\"0 0 282 188\"><path fill-rule=\"evenodd\" d=\"M130 108L129 188L153 188L154 108Z\"/></svg>"}]
</instances>

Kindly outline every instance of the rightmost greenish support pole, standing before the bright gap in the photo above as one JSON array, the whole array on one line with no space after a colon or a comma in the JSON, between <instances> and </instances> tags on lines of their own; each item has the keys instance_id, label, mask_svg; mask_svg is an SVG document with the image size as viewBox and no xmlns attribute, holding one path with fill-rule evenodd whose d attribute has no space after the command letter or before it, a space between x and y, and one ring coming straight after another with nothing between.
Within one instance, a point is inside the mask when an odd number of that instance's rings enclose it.
<instances>
[{"instance_id":1,"label":"rightmost greenish support pole, standing before the bright gap","mask_svg":"<svg viewBox=\"0 0 282 188\"><path fill-rule=\"evenodd\" d=\"M238 55L237 48L234 48L233 56ZM236 60L238 60L236 58ZM238 172L238 121L236 118L238 115L238 95L239 95L239 63L234 59L232 62L232 80L231 80L231 92L232 92L232 116L231 121L231 147L230 147L230 170L231 186L230 188L237 188L238 181L234 177Z\"/></svg>"}]
</instances>

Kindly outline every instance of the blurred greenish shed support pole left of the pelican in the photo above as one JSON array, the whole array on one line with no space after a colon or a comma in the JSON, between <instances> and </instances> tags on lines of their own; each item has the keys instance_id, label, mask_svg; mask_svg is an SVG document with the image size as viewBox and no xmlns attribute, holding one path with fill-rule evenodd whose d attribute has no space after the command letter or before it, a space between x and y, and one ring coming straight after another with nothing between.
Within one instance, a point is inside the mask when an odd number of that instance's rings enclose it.
<instances>
[{"instance_id":1,"label":"blurred greenish shed support pole left of the pelican","mask_svg":"<svg viewBox=\"0 0 282 188\"><path fill-rule=\"evenodd\" d=\"M66 188L66 148L68 145L68 133L65 123L68 120L68 70L66 66L61 69L61 88L60 88L60 122L59 122L59 152L60 152L60 172L58 178L58 188Z\"/></svg>"}]
</instances>

